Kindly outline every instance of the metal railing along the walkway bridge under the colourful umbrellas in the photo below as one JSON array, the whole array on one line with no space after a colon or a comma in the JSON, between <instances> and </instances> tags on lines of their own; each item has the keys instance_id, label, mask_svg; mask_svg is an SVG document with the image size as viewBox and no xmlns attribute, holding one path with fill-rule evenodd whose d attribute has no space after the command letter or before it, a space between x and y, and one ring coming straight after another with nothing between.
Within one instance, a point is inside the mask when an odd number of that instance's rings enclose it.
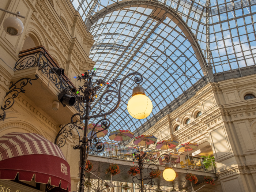
<instances>
[{"instance_id":1,"label":"metal railing along the walkway bridge under the colourful umbrellas","mask_svg":"<svg viewBox=\"0 0 256 192\"><path fill-rule=\"evenodd\" d=\"M171 163L173 167L177 168L216 173L216 165L214 159L158 150L155 149L155 146L147 148L141 146L138 147L135 145L125 143L110 142L108 140L103 139L101 139L101 141L105 145L104 151L102 151L101 153L95 153L93 150L91 150L91 146L89 145L89 155L132 161L133 153L147 153L148 163L151 163L156 162L160 155L167 153L170 155L171 159L169 161L166 161L165 156L163 155L162 158L159 159L159 165L165 165L165 163L168 162Z\"/></svg>"}]
</instances>

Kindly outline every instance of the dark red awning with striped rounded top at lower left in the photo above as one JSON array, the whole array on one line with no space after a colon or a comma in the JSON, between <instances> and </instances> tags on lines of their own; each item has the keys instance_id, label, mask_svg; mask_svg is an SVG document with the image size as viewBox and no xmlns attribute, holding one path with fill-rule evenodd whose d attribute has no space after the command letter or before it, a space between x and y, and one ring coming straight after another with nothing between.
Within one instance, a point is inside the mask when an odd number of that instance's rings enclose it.
<instances>
[{"instance_id":1,"label":"dark red awning with striped rounded top at lower left","mask_svg":"<svg viewBox=\"0 0 256 192\"><path fill-rule=\"evenodd\" d=\"M0 138L0 179L50 184L71 191L70 167L56 144L35 133L8 133Z\"/></svg>"}]
</instances>

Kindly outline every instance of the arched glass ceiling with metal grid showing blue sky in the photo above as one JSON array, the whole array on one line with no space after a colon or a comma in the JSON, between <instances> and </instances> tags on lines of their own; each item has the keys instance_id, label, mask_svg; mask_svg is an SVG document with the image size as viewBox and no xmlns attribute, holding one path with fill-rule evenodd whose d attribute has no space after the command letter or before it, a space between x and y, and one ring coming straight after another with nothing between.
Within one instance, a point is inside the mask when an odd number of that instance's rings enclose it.
<instances>
[{"instance_id":1,"label":"arched glass ceiling with metal grid showing blue sky","mask_svg":"<svg viewBox=\"0 0 256 192\"><path fill-rule=\"evenodd\" d=\"M114 8L122 3L118 0L71 2L84 20L104 11L107 6ZM180 15L207 58L206 0L150 2L171 7ZM255 4L256 0L210 1L209 33L213 73L224 72L225 75L225 71L230 69L255 65ZM97 75L110 81L138 71L144 77L141 85L153 102L153 111L148 118L132 118L127 111L127 103L134 84L132 80L125 82L120 108L110 117L112 129L136 132L144 122L154 118L156 113L195 82L202 81L201 78L206 75L196 57L198 50L193 49L187 32L180 28L175 19L166 17L166 12L158 14L158 8L134 5L118 10L109 9L90 28L95 40L90 58L96 63ZM97 107L98 103L94 109ZM105 111L109 107L106 106Z\"/></svg>"}]
</instances>

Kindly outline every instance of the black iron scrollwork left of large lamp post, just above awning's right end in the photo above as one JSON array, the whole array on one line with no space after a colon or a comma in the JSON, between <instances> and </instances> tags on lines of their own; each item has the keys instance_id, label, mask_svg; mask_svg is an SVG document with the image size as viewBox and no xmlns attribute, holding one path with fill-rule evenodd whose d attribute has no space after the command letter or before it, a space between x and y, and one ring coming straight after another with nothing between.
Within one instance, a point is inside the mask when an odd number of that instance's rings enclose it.
<instances>
[{"instance_id":1,"label":"black iron scrollwork left of large lamp post, just above awning's right end","mask_svg":"<svg viewBox=\"0 0 256 192\"><path fill-rule=\"evenodd\" d=\"M83 124L83 121L74 121L73 118L75 116L79 116L80 117L80 114L79 113L76 113L74 115L72 115L71 117L71 123L68 123L66 125L60 125L60 131L59 133L57 134L56 138L55 138L55 141L54 141L54 144L56 144L58 147L63 147L66 143L66 138L68 138L68 136L73 136L73 133L72 133L72 130L75 128L76 132L78 133L78 136L79 136L79 141L80 141L80 134L78 132L78 129L82 129L82 127L80 125ZM61 136L61 137L60 137ZM60 139L59 139L60 137Z\"/></svg>"}]
</instances>

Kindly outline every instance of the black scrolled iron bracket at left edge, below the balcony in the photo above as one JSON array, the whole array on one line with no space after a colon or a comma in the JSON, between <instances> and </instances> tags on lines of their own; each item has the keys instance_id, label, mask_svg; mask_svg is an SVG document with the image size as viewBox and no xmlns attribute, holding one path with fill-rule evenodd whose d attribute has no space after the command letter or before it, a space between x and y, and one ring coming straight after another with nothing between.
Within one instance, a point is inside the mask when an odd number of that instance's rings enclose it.
<instances>
[{"instance_id":1,"label":"black scrolled iron bracket at left edge, below the balcony","mask_svg":"<svg viewBox=\"0 0 256 192\"><path fill-rule=\"evenodd\" d=\"M35 75L34 79L22 78L18 80L16 83L13 83L13 82L10 83L9 91L7 91L7 93L5 94L4 101L1 106L1 110L3 110L3 113L0 114L0 120L4 121L6 117L5 110L10 109L14 105L14 102L15 102L14 98L18 97L19 93L25 93L25 90L23 89L23 87L25 87L28 83L32 85L31 80L37 80L38 78L39 76Z\"/></svg>"}]
</instances>

